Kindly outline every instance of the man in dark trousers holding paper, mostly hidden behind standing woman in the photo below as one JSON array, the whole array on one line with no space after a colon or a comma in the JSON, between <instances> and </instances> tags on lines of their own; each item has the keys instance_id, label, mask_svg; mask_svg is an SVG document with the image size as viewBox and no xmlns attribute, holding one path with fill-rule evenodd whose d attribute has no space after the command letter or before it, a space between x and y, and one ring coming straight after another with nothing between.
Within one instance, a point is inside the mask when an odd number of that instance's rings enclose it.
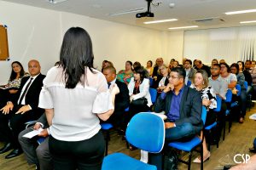
<instances>
[{"instance_id":1,"label":"man in dark trousers holding paper, mostly hidden behind standing woman","mask_svg":"<svg viewBox=\"0 0 256 170\"><path fill-rule=\"evenodd\" d=\"M33 130L38 130L38 128L44 128L44 130L39 134L39 136L44 136L44 141L41 144L37 144L37 137L32 139L23 137L24 134L32 132ZM40 116L34 127L28 127L21 131L19 134L19 142L22 150L26 156L26 161L28 164L35 164L40 170L52 170L53 162L52 157L49 154L49 127L45 114ZM40 168L39 168L40 167Z\"/></svg>"}]
</instances>

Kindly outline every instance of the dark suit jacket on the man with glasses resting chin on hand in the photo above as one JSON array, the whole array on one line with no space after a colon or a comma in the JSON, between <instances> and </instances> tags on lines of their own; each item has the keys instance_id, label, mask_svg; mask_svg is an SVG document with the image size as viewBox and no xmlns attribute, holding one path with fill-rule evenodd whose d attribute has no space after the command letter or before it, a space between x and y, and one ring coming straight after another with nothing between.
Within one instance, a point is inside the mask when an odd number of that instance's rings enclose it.
<instances>
[{"instance_id":1,"label":"dark suit jacket on the man with glasses resting chin on hand","mask_svg":"<svg viewBox=\"0 0 256 170\"><path fill-rule=\"evenodd\" d=\"M166 114L172 109L172 91L166 94L166 99L161 99L161 95L154 105L155 112L166 111ZM184 86L183 95L180 103L179 119L175 122L176 126L189 122L195 127L195 132L199 133L203 127L201 121L201 94L195 89Z\"/></svg>"}]
</instances>

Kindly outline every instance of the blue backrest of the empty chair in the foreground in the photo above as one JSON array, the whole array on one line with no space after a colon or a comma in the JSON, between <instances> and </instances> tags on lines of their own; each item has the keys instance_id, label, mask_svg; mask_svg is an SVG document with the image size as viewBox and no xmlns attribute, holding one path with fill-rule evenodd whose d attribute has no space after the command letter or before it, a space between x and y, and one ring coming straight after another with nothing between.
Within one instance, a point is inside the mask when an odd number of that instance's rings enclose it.
<instances>
[{"instance_id":1,"label":"blue backrest of the empty chair in the foreground","mask_svg":"<svg viewBox=\"0 0 256 170\"><path fill-rule=\"evenodd\" d=\"M158 153L164 147L165 133L165 124L160 116L141 112L131 118L125 137L141 150Z\"/></svg>"}]
</instances>

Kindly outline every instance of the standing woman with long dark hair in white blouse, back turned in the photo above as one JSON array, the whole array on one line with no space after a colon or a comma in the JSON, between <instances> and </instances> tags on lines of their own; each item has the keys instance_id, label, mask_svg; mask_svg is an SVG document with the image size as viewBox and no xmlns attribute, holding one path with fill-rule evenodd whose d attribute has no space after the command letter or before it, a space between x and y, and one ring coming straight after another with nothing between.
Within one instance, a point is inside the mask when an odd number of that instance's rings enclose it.
<instances>
[{"instance_id":1,"label":"standing woman with long dark hair in white blouse, back turned","mask_svg":"<svg viewBox=\"0 0 256 170\"><path fill-rule=\"evenodd\" d=\"M49 122L49 151L55 170L100 170L104 138L99 118L106 121L113 113L116 85L108 83L93 68L89 34L79 27L64 36L61 64L51 68L44 79L39 107Z\"/></svg>"}]
</instances>

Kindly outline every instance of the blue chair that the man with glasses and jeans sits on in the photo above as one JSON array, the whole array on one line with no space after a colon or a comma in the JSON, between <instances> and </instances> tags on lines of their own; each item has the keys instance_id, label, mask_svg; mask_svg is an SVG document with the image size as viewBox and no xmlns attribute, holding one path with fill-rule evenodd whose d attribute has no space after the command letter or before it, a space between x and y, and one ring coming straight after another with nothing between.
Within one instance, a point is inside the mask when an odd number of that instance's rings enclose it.
<instances>
[{"instance_id":1,"label":"blue chair that the man with glasses and jeans sits on","mask_svg":"<svg viewBox=\"0 0 256 170\"><path fill-rule=\"evenodd\" d=\"M207 108L205 106L202 106L201 111L201 120L205 124L207 120ZM175 148L177 150L183 150L186 152L189 152L189 161L183 161L179 160L180 162L183 162L188 165L188 169L191 167L191 158L192 158L192 151L195 150L197 146L201 146L201 169L203 169L203 147L202 142L204 139L204 135L202 136L202 139L195 136L193 139L189 140L188 142L171 142L168 144L168 146Z\"/></svg>"}]
</instances>

